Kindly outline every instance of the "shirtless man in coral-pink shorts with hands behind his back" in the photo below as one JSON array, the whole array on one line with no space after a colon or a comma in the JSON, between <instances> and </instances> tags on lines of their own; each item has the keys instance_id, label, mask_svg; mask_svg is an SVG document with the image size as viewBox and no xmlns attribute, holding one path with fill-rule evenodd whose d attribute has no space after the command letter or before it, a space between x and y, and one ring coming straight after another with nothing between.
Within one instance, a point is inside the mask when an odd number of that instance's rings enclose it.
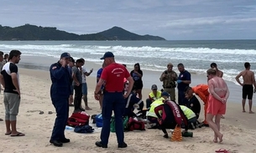
<instances>
[{"instance_id":1,"label":"shirtless man in coral-pink shorts with hands behind his back","mask_svg":"<svg viewBox=\"0 0 256 153\"><path fill-rule=\"evenodd\" d=\"M220 132L220 121L222 115L226 113L226 103L229 96L229 90L224 79L217 76L215 69L207 70L209 99L206 114L206 120L214 131L213 142L217 143L217 139L222 142L222 133ZM212 121L215 116L215 122Z\"/></svg>"}]
</instances>

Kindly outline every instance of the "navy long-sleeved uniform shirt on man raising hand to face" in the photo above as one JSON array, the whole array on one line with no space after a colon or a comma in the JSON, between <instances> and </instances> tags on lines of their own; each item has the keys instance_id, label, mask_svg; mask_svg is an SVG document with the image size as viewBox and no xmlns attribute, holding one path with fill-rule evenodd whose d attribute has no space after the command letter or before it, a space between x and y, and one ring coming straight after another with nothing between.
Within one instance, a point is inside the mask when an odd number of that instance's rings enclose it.
<instances>
[{"instance_id":1,"label":"navy long-sleeved uniform shirt on man raising hand to face","mask_svg":"<svg viewBox=\"0 0 256 153\"><path fill-rule=\"evenodd\" d=\"M50 97L51 98L66 98L71 94L71 69L66 65L61 66L60 62L50 66Z\"/></svg>"}]
</instances>

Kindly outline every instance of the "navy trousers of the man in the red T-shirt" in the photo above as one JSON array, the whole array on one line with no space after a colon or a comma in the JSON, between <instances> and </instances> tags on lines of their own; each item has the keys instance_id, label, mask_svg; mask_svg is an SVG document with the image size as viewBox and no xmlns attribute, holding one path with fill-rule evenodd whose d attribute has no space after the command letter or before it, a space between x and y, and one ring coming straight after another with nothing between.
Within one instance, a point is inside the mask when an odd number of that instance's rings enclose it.
<instances>
[{"instance_id":1,"label":"navy trousers of the man in the red T-shirt","mask_svg":"<svg viewBox=\"0 0 256 153\"><path fill-rule=\"evenodd\" d=\"M123 92L104 92L102 102L102 133L101 140L102 145L107 145L110 134L110 120L112 116L112 110L115 115L115 128L118 138L118 144L123 144L123 112L125 109L125 102L123 98Z\"/></svg>"}]
</instances>

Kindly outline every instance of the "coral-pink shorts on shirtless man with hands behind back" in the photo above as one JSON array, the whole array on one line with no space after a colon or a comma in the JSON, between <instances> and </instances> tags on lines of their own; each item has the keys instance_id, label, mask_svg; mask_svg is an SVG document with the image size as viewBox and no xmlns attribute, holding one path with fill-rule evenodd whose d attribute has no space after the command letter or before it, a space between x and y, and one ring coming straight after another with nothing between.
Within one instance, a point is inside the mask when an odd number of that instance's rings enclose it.
<instances>
[{"instance_id":1,"label":"coral-pink shorts on shirtless man with hands behind back","mask_svg":"<svg viewBox=\"0 0 256 153\"><path fill-rule=\"evenodd\" d=\"M207 114L211 115L225 115L226 113L226 104L223 104L221 101L215 99L212 94L209 95Z\"/></svg>"}]
</instances>

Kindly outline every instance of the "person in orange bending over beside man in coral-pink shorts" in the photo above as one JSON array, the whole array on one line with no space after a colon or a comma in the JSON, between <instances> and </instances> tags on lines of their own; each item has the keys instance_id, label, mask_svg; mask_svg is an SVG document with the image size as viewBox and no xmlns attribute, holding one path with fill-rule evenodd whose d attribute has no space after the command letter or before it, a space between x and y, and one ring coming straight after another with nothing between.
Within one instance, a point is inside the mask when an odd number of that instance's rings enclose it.
<instances>
[{"instance_id":1,"label":"person in orange bending over beside man in coral-pink shorts","mask_svg":"<svg viewBox=\"0 0 256 153\"><path fill-rule=\"evenodd\" d=\"M192 87L192 90L204 102L205 120L202 123L204 126L209 126L208 123L206 122L206 110L208 107L208 97L209 97L208 85L198 84L195 87Z\"/></svg>"}]
</instances>

